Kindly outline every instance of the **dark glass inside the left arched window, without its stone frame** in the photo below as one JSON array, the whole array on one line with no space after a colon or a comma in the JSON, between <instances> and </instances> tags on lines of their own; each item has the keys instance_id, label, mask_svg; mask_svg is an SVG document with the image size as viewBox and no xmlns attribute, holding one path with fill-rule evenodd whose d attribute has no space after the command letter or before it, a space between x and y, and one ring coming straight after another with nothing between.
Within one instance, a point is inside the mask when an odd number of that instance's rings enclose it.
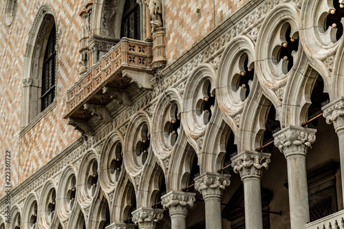
<instances>
[{"instance_id":1,"label":"dark glass inside the left arched window, without its stone frame","mask_svg":"<svg viewBox=\"0 0 344 229\"><path fill-rule=\"evenodd\" d=\"M56 66L56 27L52 30L47 40L42 71L41 111L49 106L55 97L55 66Z\"/></svg>"}]
</instances>

